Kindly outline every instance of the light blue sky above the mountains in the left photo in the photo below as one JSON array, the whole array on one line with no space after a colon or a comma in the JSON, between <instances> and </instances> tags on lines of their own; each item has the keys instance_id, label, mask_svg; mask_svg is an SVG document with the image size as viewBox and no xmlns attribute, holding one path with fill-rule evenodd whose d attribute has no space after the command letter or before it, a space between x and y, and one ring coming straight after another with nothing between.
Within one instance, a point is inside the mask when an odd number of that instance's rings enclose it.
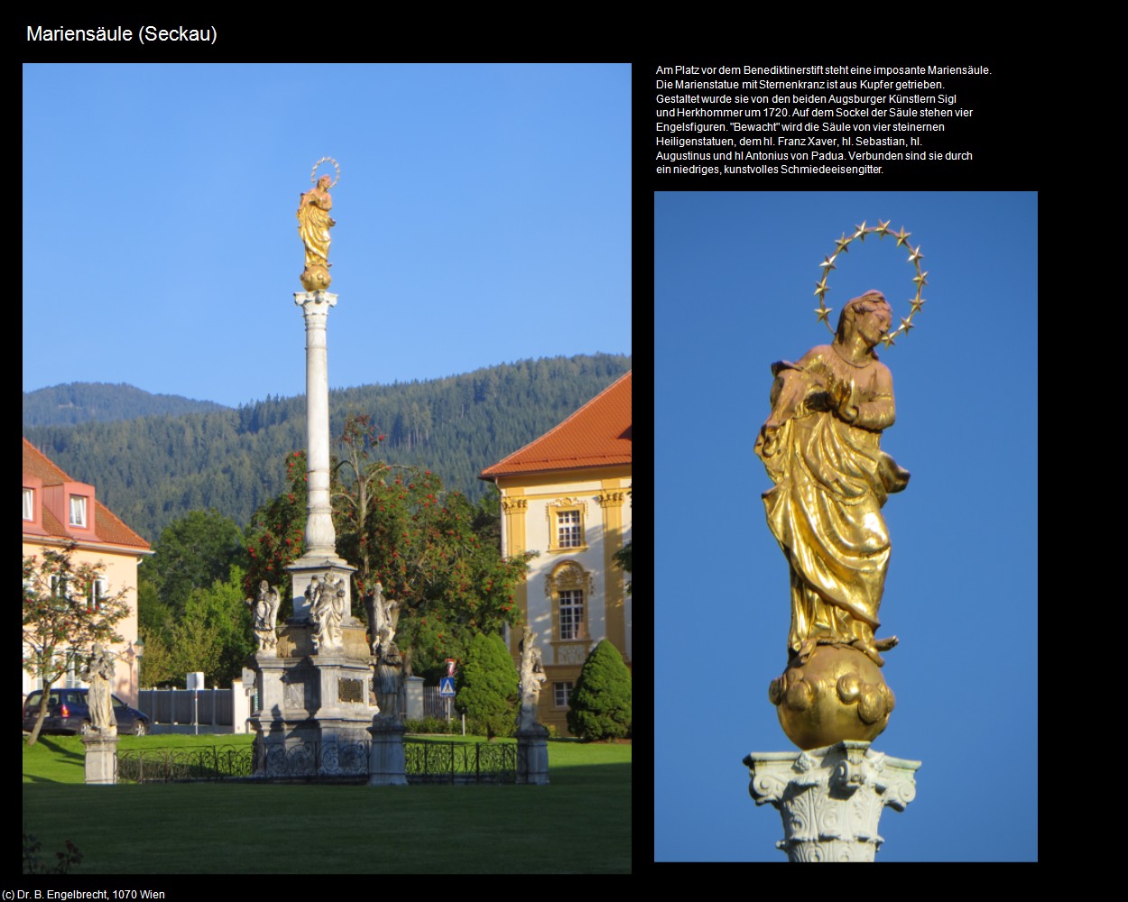
<instances>
[{"instance_id":1,"label":"light blue sky above the mountains in the left photo","mask_svg":"<svg viewBox=\"0 0 1128 902\"><path fill-rule=\"evenodd\" d=\"M331 387L631 352L628 65L310 71L24 67L25 391L302 393L324 156Z\"/></svg>"}]
</instances>

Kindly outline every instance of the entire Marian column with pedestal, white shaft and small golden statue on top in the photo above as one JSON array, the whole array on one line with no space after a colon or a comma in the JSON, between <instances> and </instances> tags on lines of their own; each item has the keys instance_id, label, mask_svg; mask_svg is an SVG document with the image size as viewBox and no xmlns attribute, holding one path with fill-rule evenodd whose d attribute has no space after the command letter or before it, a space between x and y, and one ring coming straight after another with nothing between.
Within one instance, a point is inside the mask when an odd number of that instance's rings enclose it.
<instances>
[{"instance_id":1,"label":"entire Marian column with pedestal, white shaft and small golden statue on top","mask_svg":"<svg viewBox=\"0 0 1128 902\"><path fill-rule=\"evenodd\" d=\"M317 167L326 160L318 160ZM337 171L340 178L340 170ZM336 185L317 179L301 195L298 231L306 268L294 303L306 322L307 519L305 554L287 571L293 585L293 617L272 642L270 605L264 602L263 635L255 655L258 708L249 718L255 736L255 772L262 776L362 776L369 772L368 732L379 714L372 691L372 657L364 627L352 616L355 567L336 550L329 503L329 375L326 342L329 216ZM263 590L268 600L268 586Z\"/></svg>"}]
</instances>

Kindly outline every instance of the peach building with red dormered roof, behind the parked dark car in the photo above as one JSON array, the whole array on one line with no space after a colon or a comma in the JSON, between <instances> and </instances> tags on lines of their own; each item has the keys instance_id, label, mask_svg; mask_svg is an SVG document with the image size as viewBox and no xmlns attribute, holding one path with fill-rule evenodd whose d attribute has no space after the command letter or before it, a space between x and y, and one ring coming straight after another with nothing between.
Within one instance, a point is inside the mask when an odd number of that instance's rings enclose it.
<instances>
[{"instance_id":1,"label":"peach building with red dormered roof, behind the parked dark car","mask_svg":"<svg viewBox=\"0 0 1128 902\"><path fill-rule=\"evenodd\" d=\"M138 536L95 496L94 486L71 479L46 454L24 439L24 557L42 555L44 548L59 549L76 543L77 564L105 564L103 578L90 587L91 603L98 595L124 589L129 616L115 629L124 642L109 646L117 655L114 695L136 706L138 690L138 564L151 555L149 542ZM27 671L24 697L39 682ZM73 675L55 683L86 686Z\"/></svg>"}]
</instances>

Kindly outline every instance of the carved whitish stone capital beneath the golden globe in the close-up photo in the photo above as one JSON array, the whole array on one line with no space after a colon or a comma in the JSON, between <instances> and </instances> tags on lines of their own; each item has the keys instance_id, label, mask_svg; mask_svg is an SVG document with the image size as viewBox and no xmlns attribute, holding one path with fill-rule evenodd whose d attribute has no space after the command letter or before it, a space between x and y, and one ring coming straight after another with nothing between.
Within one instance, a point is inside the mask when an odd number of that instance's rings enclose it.
<instances>
[{"instance_id":1,"label":"carved whitish stone capital beneath the golden globe in the close-up photo","mask_svg":"<svg viewBox=\"0 0 1128 902\"><path fill-rule=\"evenodd\" d=\"M882 810L905 811L920 767L851 740L805 752L752 752L744 764L756 804L769 803L783 816L776 848L790 861L872 861L883 842Z\"/></svg>"}]
</instances>

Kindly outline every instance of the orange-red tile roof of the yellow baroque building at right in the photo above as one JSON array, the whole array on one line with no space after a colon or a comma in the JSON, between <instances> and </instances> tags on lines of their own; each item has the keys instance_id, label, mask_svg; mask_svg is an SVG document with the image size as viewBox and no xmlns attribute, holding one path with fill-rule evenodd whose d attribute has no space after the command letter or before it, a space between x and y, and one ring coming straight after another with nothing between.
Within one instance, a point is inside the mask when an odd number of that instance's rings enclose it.
<instances>
[{"instance_id":1,"label":"orange-red tile roof of the yellow baroque building at right","mask_svg":"<svg viewBox=\"0 0 1128 902\"><path fill-rule=\"evenodd\" d=\"M574 470L631 462L631 373L613 382L558 426L482 471L482 479L518 472Z\"/></svg>"}]
</instances>

